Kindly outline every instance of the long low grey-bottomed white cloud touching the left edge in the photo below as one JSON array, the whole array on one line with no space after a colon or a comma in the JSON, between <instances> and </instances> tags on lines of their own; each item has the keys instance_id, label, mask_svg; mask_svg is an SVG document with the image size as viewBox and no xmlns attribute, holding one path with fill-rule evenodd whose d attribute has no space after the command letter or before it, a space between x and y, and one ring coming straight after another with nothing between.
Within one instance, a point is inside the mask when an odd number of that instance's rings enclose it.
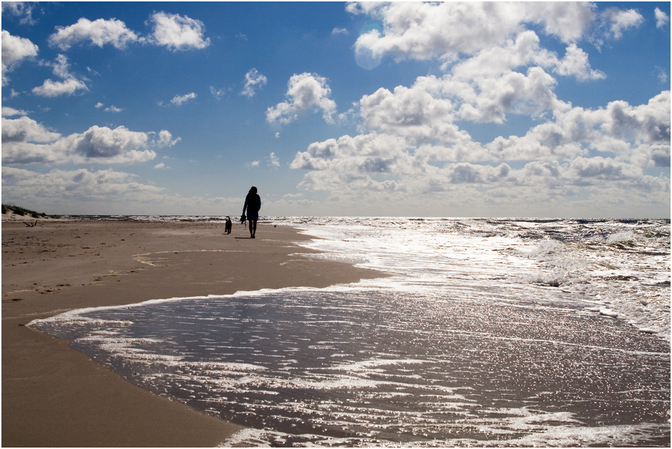
<instances>
[{"instance_id":1,"label":"long low grey-bottomed white cloud touching the left edge","mask_svg":"<svg viewBox=\"0 0 672 449\"><path fill-rule=\"evenodd\" d=\"M123 126L93 126L83 133L63 137L29 117L2 118L3 164L135 164L154 159L156 152L152 148L172 146L178 141L166 130L155 134Z\"/></svg>"}]
</instances>

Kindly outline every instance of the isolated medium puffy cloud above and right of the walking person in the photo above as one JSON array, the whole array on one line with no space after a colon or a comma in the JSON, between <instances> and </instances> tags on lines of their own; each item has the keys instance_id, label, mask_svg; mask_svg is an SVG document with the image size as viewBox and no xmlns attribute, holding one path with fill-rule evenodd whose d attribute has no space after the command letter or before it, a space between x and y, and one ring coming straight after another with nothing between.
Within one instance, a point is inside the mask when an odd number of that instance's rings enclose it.
<instances>
[{"instance_id":1,"label":"isolated medium puffy cloud above and right of the walking person","mask_svg":"<svg viewBox=\"0 0 672 449\"><path fill-rule=\"evenodd\" d=\"M336 102L330 98L327 79L315 73L293 75L287 86L287 100L266 110L266 121L290 123L303 112L322 110L325 122L332 123Z\"/></svg>"}]
</instances>

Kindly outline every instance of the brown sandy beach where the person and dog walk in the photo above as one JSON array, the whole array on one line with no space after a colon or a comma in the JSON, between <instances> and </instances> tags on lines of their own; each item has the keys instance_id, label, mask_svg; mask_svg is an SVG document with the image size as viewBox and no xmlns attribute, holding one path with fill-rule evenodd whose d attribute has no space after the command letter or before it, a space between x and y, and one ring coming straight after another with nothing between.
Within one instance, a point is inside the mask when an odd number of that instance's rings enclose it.
<instances>
[{"instance_id":1,"label":"brown sandy beach where the person and dog walk","mask_svg":"<svg viewBox=\"0 0 672 449\"><path fill-rule=\"evenodd\" d=\"M380 273L310 258L292 228L2 222L2 445L215 446L238 426L155 396L25 325L81 307L325 287Z\"/></svg>"}]
</instances>

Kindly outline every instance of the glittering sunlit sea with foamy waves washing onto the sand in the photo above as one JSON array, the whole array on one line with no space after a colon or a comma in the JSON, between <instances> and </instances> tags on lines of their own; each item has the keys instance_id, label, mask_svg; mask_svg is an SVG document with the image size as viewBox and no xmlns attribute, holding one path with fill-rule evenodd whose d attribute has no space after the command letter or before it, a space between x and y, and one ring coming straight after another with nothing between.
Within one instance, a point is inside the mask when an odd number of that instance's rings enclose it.
<instances>
[{"instance_id":1,"label":"glittering sunlit sea with foamy waves washing onto the sand","mask_svg":"<svg viewBox=\"0 0 672 449\"><path fill-rule=\"evenodd\" d=\"M390 276L29 325L246 426L223 446L670 445L669 220L266 222Z\"/></svg>"}]
</instances>

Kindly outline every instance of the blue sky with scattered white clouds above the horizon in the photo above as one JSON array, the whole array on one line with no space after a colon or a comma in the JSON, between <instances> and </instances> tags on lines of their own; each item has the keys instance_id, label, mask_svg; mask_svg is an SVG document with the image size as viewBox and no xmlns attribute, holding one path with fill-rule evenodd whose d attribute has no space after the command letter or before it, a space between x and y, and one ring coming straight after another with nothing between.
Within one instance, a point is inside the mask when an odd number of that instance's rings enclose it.
<instances>
[{"instance_id":1,"label":"blue sky with scattered white clouds above the horizon","mask_svg":"<svg viewBox=\"0 0 672 449\"><path fill-rule=\"evenodd\" d=\"M669 2L2 2L2 202L670 218Z\"/></svg>"}]
</instances>

